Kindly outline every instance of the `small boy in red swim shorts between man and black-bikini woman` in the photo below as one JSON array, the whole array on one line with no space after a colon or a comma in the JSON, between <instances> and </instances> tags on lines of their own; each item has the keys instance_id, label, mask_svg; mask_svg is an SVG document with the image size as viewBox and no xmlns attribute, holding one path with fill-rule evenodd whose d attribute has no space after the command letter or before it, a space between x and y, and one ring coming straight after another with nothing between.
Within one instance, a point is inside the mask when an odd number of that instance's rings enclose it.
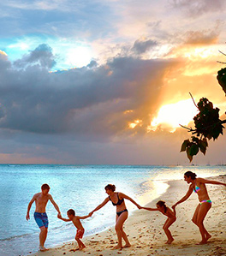
<instances>
[{"instance_id":1,"label":"small boy in red swim shorts between man and black-bikini woman","mask_svg":"<svg viewBox=\"0 0 226 256\"><path fill-rule=\"evenodd\" d=\"M86 216L75 216L75 211L73 209L70 209L67 211L68 218L63 218L60 214L57 215L58 218L62 219L65 222L72 221L74 223L74 227L77 229L76 235L75 235L75 240L78 242L78 248L76 250L82 250L86 246L80 239L84 235L85 229L83 228L82 224L80 223L80 219L85 219L86 217L91 217L91 215L86 215Z\"/></svg>"}]
</instances>

